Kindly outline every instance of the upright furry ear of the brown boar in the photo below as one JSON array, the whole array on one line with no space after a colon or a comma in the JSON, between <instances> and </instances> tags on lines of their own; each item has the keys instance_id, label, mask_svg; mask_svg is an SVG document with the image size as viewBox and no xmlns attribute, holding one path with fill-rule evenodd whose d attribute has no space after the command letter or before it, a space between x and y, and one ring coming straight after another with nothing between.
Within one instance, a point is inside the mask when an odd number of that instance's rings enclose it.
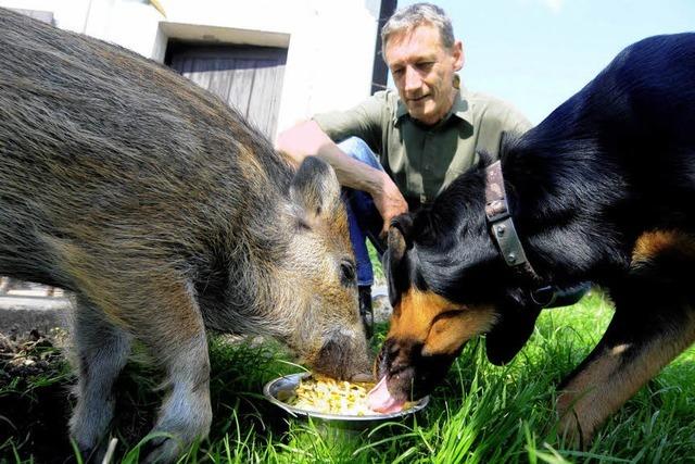
<instances>
[{"instance_id":1,"label":"upright furry ear of the brown boar","mask_svg":"<svg viewBox=\"0 0 695 464\"><path fill-rule=\"evenodd\" d=\"M332 215L342 205L333 168L316 156L306 156L290 185L290 198L309 222Z\"/></svg>"}]
</instances>

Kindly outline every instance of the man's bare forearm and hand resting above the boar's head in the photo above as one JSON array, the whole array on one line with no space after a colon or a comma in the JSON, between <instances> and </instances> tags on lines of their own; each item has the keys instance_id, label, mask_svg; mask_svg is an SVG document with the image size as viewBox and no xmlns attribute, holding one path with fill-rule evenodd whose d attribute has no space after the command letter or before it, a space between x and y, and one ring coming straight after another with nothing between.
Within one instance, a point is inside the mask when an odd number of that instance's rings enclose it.
<instances>
[{"instance_id":1,"label":"man's bare forearm and hand resting above the boar's head","mask_svg":"<svg viewBox=\"0 0 695 464\"><path fill-rule=\"evenodd\" d=\"M386 172L343 153L315 121L305 121L279 134L276 149L298 166L306 156L318 156L333 167L340 185L369 193L383 218L382 233L388 231L391 218L408 210L403 195Z\"/></svg>"}]
</instances>

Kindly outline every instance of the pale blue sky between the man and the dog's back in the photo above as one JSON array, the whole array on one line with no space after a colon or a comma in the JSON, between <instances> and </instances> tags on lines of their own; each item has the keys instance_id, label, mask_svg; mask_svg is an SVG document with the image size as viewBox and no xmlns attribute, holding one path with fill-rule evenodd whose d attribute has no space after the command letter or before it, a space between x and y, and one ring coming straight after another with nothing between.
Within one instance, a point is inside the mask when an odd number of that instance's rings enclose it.
<instances>
[{"instance_id":1,"label":"pale blue sky between the man and the dog's back","mask_svg":"<svg viewBox=\"0 0 695 464\"><path fill-rule=\"evenodd\" d=\"M399 7L416 3L399 0ZM439 0L464 41L466 87L540 123L626 46L695 30L695 0Z\"/></svg>"}]
</instances>

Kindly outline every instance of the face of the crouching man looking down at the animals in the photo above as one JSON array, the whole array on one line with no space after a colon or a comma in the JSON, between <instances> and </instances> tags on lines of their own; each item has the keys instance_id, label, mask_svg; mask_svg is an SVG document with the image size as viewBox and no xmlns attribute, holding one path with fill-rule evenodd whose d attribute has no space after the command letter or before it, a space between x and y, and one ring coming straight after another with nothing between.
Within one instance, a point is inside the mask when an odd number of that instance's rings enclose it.
<instances>
[{"instance_id":1,"label":"face of the crouching man looking down at the animals","mask_svg":"<svg viewBox=\"0 0 695 464\"><path fill-rule=\"evenodd\" d=\"M454 103L454 74L464 65L462 42L445 49L435 26L420 25L389 37L384 52L410 116L437 124Z\"/></svg>"}]
</instances>

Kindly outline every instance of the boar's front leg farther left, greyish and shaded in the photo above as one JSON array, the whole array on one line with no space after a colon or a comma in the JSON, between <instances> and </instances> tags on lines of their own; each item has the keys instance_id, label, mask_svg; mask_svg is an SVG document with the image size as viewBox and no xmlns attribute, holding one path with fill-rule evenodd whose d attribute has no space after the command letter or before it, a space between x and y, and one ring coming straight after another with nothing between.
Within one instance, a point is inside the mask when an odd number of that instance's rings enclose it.
<instances>
[{"instance_id":1,"label":"boar's front leg farther left, greyish and shaded","mask_svg":"<svg viewBox=\"0 0 695 464\"><path fill-rule=\"evenodd\" d=\"M77 297L74 317L79 380L77 405L70 421L71 436L86 457L99 462L105 443L99 446L113 418L113 385L128 360L131 337L84 297Z\"/></svg>"}]
</instances>

